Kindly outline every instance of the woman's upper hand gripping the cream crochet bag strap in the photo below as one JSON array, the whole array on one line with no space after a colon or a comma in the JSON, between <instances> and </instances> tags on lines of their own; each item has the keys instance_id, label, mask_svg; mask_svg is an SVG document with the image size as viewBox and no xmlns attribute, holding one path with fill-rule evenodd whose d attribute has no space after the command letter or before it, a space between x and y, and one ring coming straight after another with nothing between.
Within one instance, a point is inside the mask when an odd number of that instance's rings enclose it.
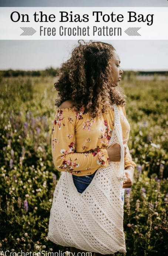
<instances>
[{"instance_id":1,"label":"woman's upper hand gripping the cream crochet bag strap","mask_svg":"<svg viewBox=\"0 0 168 256\"><path fill-rule=\"evenodd\" d=\"M108 158L112 162L120 162L121 160L121 147L115 143L107 149ZM124 144L124 157L127 153L127 144Z\"/></svg>"}]
</instances>

